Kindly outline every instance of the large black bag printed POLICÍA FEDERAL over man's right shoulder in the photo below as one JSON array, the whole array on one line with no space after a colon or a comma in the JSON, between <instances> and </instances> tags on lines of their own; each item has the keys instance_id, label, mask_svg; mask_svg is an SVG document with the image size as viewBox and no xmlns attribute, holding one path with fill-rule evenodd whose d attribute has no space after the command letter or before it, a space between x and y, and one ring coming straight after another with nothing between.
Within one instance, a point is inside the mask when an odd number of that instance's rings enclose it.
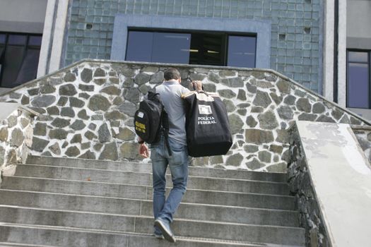
<instances>
[{"instance_id":1,"label":"large black bag printed POLIC\u00cdA FEDERAL over man's right shoulder","mask_svg":"<svg viewBox=\"0 0 371 247\"><path fill-rule=\"evenodd\" d=\"M192 91L186 102L188 153L192 157L225 155L232 146L227 109L218 94Z\"/></svg>"}]
</instances>

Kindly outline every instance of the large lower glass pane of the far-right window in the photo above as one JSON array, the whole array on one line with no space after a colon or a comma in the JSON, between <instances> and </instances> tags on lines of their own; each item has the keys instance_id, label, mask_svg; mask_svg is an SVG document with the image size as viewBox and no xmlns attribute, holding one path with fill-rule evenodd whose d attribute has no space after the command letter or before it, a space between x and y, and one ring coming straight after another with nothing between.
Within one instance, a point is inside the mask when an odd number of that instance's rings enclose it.
<instances>
[{"instance_id":1,"label":"large lower glass pane of the far-right window","mask_svg":"<svg viewBox=\"0 0 371 247\"><path fill-rule=\"evenodd\" d=\"M348 107L368 108L370 88L367 64L348 64Z\"/></svg>"}]
</instances>

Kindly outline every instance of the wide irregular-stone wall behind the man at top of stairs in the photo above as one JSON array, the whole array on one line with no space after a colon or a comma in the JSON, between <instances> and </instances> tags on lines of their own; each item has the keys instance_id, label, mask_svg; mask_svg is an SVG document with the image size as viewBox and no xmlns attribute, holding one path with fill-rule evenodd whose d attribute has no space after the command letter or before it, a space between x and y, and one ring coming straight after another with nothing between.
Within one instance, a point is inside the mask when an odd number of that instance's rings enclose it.
<instances>
[{"instance_id":1,"label":"wide irregular-stone wall behind the man at top of stairs","mask_svg":"<svg viewBox=\"0 0 371 247\"><path fill-rule=\"evenodd\" d=\"M218 92L229 112L230 152L193 159L194 165L285 172L288 128L295 120L368 124L285 76L259 69L81 61L0 95L0 101L41 114L34 123L34 155L139 161L134 112L169 66L181 71L183 85L190 76Z\"/></svg>"}]
</instances>

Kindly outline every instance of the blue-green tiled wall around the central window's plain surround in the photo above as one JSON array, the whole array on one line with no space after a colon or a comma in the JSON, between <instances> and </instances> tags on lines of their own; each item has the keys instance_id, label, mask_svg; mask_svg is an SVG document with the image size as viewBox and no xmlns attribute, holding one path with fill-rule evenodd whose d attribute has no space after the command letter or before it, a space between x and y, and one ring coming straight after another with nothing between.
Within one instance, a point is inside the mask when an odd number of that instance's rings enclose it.
<instances>
[{"instance_id":1,"label":"blue-green tiled wall around the central window's plain surround","mask_svg":"<svg viewBox=\"0 0 371 247\"><path fill-rule=\"evenodd\" d=\"M64 65L110 59L117 13L271 20L271 68L322 88L320 0L73 0Z\"/></svg>"}]
</instances>

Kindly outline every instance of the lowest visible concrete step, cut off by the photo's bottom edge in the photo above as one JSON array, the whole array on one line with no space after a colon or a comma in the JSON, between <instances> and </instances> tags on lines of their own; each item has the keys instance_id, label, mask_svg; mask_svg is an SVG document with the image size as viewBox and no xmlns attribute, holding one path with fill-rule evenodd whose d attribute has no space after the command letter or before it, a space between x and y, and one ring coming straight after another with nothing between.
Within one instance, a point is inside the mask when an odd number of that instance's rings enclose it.
<instances>
[{"instance_id":1,"label":"lowest visible concrete step, cut off by the photo's bottom edge","mask_svg":"<svg viewBox=\"0 0 371 247\"><path fill-rule=\"evenodd\" d=\"M28 226L23 224L0 225L0 242L21 244L26 246L121 246L121 247L278 247L276 244L243 243L239 241L219 241L216 239L196 239L177 237L177 243L169 243L155 239L150 234L122 234L109 231L87 231L82 229L66 229L60 227ZM48 243L48 246L44 246ZM282 246L280 247L295 247ZM304 245L300 245L304 246ZM296 246L298 247L298 246Z\"/></svg>"}]
</instances>

